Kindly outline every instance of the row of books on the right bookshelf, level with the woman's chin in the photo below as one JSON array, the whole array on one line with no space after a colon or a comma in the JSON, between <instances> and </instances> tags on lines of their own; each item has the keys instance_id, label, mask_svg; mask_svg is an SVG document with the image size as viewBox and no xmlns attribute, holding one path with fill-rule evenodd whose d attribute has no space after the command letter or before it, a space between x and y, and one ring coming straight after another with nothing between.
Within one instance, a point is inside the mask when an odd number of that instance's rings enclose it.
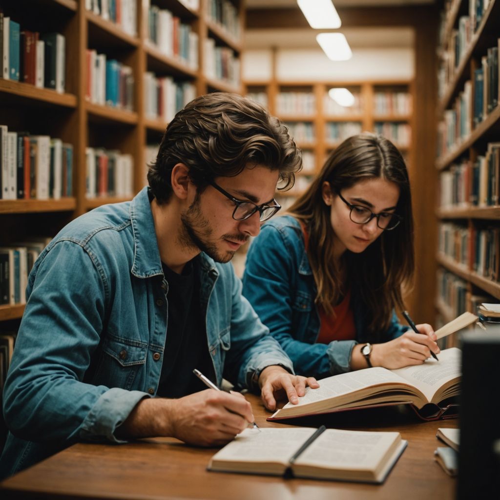
<instances>
[{"instance_id":1,"label":"row of books on the right bookshelf, level with the woman's chin","mask_svg":"<svg viewBox=\"0 0 500 500\"><path fill-rule=\"evenodd\" d=\"M500 280L500 228L439 224L438 249L466 269L493 281Z\"/></svg>"}]
</instances>

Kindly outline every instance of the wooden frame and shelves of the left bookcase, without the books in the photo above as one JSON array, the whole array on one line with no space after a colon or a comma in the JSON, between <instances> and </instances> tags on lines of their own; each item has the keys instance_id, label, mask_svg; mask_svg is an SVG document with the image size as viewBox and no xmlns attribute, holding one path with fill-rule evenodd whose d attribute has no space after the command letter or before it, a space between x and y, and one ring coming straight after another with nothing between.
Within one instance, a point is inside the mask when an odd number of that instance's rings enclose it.
<instances>
[{"instance_id":1,"label":"wooden frame and shelves of the left bookcase, without the books","mask_svg":"<svg viewBox=\"0 0 500 500\"><path fill-rule=\"evenodd\" d=\"M9 130L28 130L32 134L58 137L73 145L73 196L62 199L0 199L0 246L31 236L53 235L65 223L103 203L120 202L122 197L86 198L86 147L104 147L129 153L133 158L133 191L139 191L145 179L145 146L159 144L166 127L161 118L146 116L143 75L152 71L171 76L175 81L194 85L195 95L208 91L242 92L233 81L205 74L205 39L217 47L229 47L240 58L244 25L244 0L230 0L237 10L236 38L207 13L208 0L199 0L192 8L180 0L150 0L151 5L168 9L198 35L196 67L176 56L163 53L147 39L147 3L136 0L136 33L125 32L119 25L85 9L80 0L5 0L4 15L20 24L20 29L46 33L56 31L65 37L65 91L0 78L0 123ZM86 50L95 49L108 58L132 68L133 108L125 110L89 102L85 98L87 82ZM236 75L237 77L237 75ZM1 321L20 318L23 305L0 306Z\"/></svg>"}]
</instances>

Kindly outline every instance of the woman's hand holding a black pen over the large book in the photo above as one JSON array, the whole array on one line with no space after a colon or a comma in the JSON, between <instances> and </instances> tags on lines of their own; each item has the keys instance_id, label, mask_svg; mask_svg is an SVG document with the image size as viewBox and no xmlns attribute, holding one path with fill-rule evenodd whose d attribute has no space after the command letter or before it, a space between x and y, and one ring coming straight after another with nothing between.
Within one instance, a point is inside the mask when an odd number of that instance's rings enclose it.
<instances>
[{"instance_id":1,"label":"woman's hand holding a black pen over the large book","mask_svg":"<svg viewBox=\"0 0 500 500\"><path fill-rule=\"evenodd\" d=\"M370 354L373 366L394 369L403 366L422 364L431 356L430 352L439 354L434 330L430 324L416 325L419 333L405 331L401 336L388 342L374 344Z\"/></svg>"}]
</instances>

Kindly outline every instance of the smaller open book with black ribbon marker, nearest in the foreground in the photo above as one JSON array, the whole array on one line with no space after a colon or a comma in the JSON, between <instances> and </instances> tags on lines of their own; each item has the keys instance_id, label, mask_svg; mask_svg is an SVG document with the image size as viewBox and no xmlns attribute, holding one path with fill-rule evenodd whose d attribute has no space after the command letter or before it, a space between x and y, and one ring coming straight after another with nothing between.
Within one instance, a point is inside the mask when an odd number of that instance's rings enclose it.
<instances>
[{"instance_id":1,"label":"smaller open book with black ribbon marker, nearest in the foreground","mask_svg":"<svg viewBox=\"0 0 500 500\"><path fill-rule=\"evenodd\" d=\"M399 432L245 429L215 453L208 470L383 482L406 447Z\"/></svg>"}]
</instances>

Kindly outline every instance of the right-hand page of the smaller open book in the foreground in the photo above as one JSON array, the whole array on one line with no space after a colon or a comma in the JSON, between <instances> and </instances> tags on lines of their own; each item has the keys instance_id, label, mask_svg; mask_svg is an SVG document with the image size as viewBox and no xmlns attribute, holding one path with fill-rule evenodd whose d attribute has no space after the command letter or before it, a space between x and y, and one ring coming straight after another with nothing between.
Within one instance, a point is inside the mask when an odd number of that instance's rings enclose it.
<instances>
[{"instance_id":1,"label":"right-hand page of the smaller open book in the foreground","mask_svg":"<svg viewBox=\"0 0 500 500\"><path fill-rule=\"evenodd\" d=\"M375 470L395 440L399 440L399 432L327 429L303 451L295 464Z\"/></svg>"}]
</instances>

